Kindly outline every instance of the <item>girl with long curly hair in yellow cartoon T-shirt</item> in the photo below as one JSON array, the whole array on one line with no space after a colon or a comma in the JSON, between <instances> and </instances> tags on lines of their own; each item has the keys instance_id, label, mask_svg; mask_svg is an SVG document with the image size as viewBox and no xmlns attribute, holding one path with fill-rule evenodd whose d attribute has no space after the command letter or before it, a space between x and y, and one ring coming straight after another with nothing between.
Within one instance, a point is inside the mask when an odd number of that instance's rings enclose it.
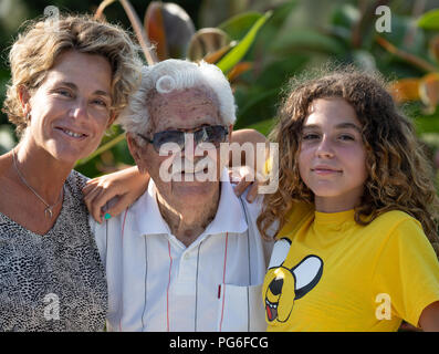
<instances>
[{"instance_id":1,"label":"girl with long curly hair in yellow cartoon T-shirt","mask_svg":"<svg viewBox=\"0 0 439 354\"><path fill-rule=\"evenodd\" d=\"M353 67L295 79L271 134L269 331L439 331L438 197L411 122Z\"/></svg>"}]
</instances>

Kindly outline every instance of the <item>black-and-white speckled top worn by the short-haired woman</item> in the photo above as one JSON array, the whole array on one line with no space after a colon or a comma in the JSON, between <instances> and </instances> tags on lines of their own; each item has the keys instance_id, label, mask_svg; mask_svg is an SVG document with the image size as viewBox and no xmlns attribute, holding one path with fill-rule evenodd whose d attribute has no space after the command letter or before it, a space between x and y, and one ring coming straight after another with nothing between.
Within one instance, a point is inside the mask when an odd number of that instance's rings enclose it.
<instances>
[{"instance_id":1,"label":"black-and-white speckled top worn by the short-haired woman","mask_svg":"<svg viewBox=\"0 0 439 354\"><path fill-rule=\"evenodd\" d=\"M61 212L44 236L0 214L0 331L104 330L107 287L83 201L85 181L69 175Z\"/></svg>"}]
</instances>

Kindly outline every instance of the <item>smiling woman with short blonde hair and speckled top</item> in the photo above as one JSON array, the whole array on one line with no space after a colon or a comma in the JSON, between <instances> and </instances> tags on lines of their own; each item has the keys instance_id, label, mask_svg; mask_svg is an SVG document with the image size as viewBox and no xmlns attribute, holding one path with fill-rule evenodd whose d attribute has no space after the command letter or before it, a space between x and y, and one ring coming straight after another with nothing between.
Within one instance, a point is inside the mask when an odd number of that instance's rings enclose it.
<instances>
[{"instance_id":1,"label":"smiling woman with short blonde hair and speckled top","mask_svg":"<svg viewBox=\"0 0 439 354\"><path fill-rule=\"evenodd\" d=\"M72 168L137 88L137 48L119 27L61 15L29 22L9 59L20 142L0 156L0 331L102 331L105 271Z\"/></svg>"}]
</instances>

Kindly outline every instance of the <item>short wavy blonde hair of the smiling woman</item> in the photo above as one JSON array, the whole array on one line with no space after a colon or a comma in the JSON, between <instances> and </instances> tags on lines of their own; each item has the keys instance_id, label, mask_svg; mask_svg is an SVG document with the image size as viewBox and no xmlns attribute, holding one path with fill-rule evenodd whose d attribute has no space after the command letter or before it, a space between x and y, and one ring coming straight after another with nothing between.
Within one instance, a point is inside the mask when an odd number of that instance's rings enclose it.
<instances>
[{"instance_id":1,"label":"short wavy blonde hair of the smiling woman","mask_svg":"<svg viewBox=\"0 0 439 354\"><path fill-rule=\"evenodd\" d=\"M15 124L18 136L22 136L28 126L19 98L20 90L36 90L59 55L66 50L98 54L108 60L112 67L112 110L116 115L137 88L142 67L138 46L118 25L90 15L29 21L9 53L12 77L3 103L3 112Z\"/></svg>"}]
</instances>

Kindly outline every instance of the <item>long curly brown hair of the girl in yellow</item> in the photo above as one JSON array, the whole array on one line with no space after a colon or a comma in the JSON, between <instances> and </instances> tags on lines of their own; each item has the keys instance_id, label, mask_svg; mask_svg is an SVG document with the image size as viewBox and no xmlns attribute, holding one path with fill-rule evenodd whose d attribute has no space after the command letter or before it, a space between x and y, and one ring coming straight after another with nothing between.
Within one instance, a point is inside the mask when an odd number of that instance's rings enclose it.
<instances>
[{"instance_id":1,"label":"long curly brown hair of the girl in yellow","mask_svg":"<svg viewBox=\"0 0 439 354\"><path fill-rule=\"evenodd\" d=\"M264 196L258 218L261 233L269 238L268 230L274 221L279 222L279 231L295 201L314 202L313 192L299 173L302 126L314 100L339 97L355 110L366 149L368 178L355 208L355 221L367 225L386 211L401 210L419 220L429 240L437 242L439 201L432 166L417 140L414 125L397 110L383 77L353 66L322 71L317 79L293 79L281 103L279 121L270 135L279 144L279 188ZM433 246L437 248L438 243Z\"/></svg>"}]
</instances>

